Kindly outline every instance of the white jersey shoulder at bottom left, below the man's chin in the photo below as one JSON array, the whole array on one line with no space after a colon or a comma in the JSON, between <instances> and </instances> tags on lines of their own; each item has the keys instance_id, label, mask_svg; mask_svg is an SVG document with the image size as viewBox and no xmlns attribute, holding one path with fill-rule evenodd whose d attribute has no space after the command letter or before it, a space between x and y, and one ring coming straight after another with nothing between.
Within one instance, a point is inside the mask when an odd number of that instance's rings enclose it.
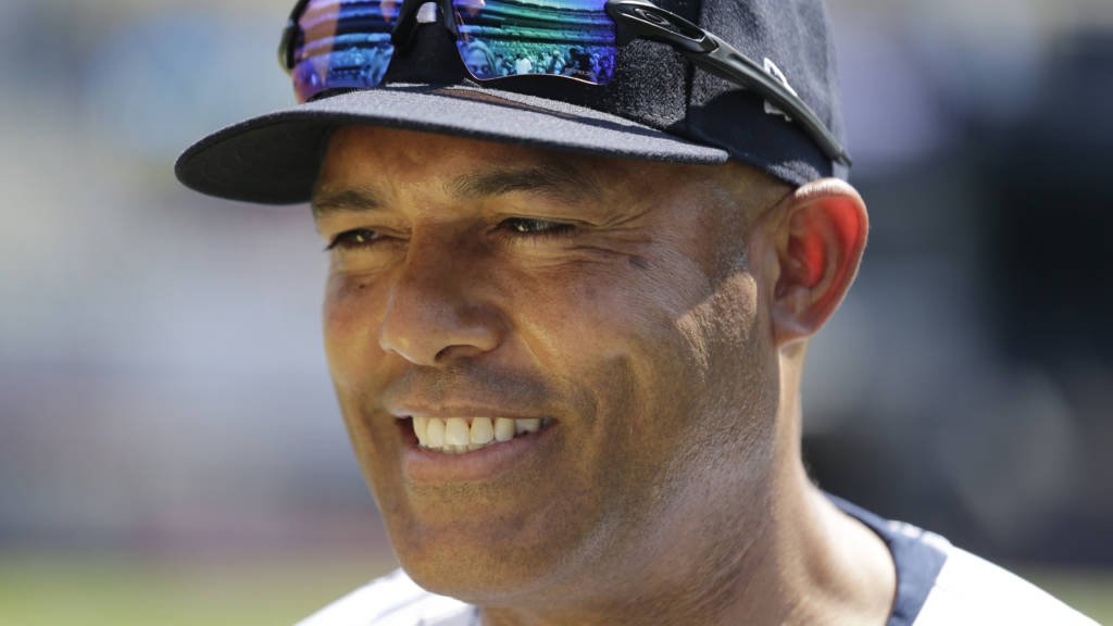
<instances>
[{"instance_id":1,"label":"white jersey shoulder at bottom left, below the man's chin","mask_svg":"<svg viewBox=\"0 0 1113 626\"><path fill-rule=\"evenodd\" d=\"M401 569L359 587L296 626L469 626L473 607L422 589Z\"/></svg>"}]
</instances>

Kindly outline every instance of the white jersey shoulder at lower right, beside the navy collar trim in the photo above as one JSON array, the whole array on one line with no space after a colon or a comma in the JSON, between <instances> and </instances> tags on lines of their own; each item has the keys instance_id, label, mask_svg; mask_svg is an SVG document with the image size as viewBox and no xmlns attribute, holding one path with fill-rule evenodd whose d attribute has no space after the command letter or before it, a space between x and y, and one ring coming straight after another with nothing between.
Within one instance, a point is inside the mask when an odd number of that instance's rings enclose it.
<instances>
[{"instance_id":1,"label":"white jersey shoulder at lower right, beside the navy collar trim","mask_svg":"<svg viewBox=\"0 0 1113 626\"><path fill-rule=\"evenodd\" d=\"M951 546L914 626L1015 624L1097 626L1035 585Z\"/></svg>"}]
</instances>

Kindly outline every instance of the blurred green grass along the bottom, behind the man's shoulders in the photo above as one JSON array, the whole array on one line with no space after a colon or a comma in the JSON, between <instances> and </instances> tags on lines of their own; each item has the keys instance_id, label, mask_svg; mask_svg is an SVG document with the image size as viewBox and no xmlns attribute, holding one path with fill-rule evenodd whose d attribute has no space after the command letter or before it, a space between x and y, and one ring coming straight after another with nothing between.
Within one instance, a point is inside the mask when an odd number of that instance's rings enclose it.
<instances>
[{"instance_id":1,"label":"blurred green grass along the bottom, behind the man's shoulders","mask_svg":"<svg viewBox=\"0 0 1113 626\"><path fill-rule=\"evenodd\" d=\"M3 555L0 625L292 624L393 567L388 557L366 555ZM1113 571L1014 568L1100 624L1113 624Z\"/></svg>"}]
</instances>

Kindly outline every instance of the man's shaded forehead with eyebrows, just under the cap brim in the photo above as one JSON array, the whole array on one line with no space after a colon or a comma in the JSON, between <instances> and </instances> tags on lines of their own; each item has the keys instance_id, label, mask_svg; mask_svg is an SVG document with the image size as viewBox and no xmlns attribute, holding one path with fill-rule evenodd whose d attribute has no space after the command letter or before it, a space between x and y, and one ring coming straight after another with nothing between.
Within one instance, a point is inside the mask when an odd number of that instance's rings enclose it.
<instances>
[{"instance_id":1,"label":"man's shaded forehead with eyebrows, just under the cap brim","mask_svg":"<svg viewBox=\"0 0 1113 626\"><path fill-rule=\"evenodd\" d=\"M314 190L315 208L322 199L353 190L410 199L526 192L563 204L591 198L592 204L609 204L615 209L640 199L686 196L696 204L726 203L748 213L788 189L779 180L736 162L653 163L352 126L337 129L331 138Z\"/></svg>"}]
</instances>

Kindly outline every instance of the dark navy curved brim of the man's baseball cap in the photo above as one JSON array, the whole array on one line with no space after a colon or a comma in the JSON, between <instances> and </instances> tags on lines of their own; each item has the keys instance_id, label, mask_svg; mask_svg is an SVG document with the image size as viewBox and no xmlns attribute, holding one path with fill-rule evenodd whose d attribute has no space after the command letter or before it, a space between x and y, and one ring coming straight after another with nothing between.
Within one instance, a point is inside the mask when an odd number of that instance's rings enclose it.
<instances>
[{"instance_id":1,"label":"dark navy curved brim of the man's baseball cap","mask_svg":"<svg viewBox=\"0 0 1113 626\"><path fill-rule=\"evenodd\" d=\"M329 133L346 125L674 163L716 164L728 157L723 149L559 100L472 87L392 85L322 98L214 133L178 158L175 173L186 186L213 196L308 202Z\"/></svg>"}]
</instances>

